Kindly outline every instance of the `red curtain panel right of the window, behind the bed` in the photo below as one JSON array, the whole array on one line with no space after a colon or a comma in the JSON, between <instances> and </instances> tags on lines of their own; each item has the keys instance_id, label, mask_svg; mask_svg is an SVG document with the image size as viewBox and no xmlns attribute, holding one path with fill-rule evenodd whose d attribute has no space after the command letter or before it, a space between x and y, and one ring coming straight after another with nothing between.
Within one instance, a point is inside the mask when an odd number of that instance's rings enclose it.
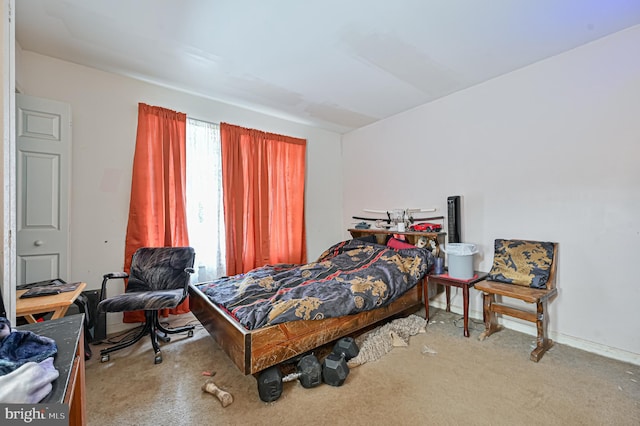
<instances>
[{"instance_id":1,"label":"red curtain panel right of the window, behind the bed","mask_svg":"<svg viewBox=\"0 0 640 426\"><path fill-rule=\"evenodd\" d=\"M306 140L220 124L227 275L306 263Z\"/></svg>"}]
</instances>

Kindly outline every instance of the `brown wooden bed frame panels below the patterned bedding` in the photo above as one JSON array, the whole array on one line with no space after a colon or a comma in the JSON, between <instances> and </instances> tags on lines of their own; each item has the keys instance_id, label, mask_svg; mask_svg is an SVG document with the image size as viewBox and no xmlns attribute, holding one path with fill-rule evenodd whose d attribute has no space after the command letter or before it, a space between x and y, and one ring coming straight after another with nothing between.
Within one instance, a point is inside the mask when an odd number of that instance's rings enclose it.
<instances>
[{"instance_id":1,"label":"brown wooden bed frame panels below the patterned bedding","mask_svg":"<svg viewBox=\"0 0 640 426\"><path fill-rule=\"evenodd\" d=\"M213 304L193 285L189 286L191 311L245 375L256 374L295 356L355 333L379 321L422 306L422 279L388 306L338 318L291 321L246 330Z\"/></svg>"}]
</instances>

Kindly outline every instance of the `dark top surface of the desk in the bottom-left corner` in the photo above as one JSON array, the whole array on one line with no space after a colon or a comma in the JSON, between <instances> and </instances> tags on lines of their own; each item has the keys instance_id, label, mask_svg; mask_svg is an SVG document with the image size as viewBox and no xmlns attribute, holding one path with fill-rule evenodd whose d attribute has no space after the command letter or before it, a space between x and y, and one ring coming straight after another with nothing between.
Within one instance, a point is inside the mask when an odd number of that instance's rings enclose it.
<instances>
[{"instance_id":1,"label":"dark top surface of the desk in the bottom-left corner","mask_svg":"<svg viewBox=\"0 0 640 426\"><path fill-rule=\"evenodd\" d=\"M83 321L84 314L78 314L16 327L18 330L28 330L40 336L50 337L56 341L58 346L58 353L53 361L53 366L58 370L60 376L53 381L51 393L40 402L41 404L64 402L64 396L71 377L71 367L80 342ZM84 356L84 354L81 354L81 356Z\"/></svg>"}]
</instances>

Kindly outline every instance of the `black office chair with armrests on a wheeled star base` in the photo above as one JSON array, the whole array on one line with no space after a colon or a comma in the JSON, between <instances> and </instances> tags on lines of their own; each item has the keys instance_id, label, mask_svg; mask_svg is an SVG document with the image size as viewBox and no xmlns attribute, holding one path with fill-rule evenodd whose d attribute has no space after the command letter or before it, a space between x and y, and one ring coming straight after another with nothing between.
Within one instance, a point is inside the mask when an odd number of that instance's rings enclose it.
<instances>
[{"instance_id":1,"label":"black office chair with armrests on a wheeled star base","mask_svg":"<svg viewBox=\"0 0 640 426\"><path fill-rule=\"evenodd\" d=\"M169 342L167 334L187 332L193 336L193 325L164 328L160 325L158 311L175 308L187 297L189 277L194 272L195 252L191 247L143 247L131 258L131 270L112 272L104 275L100 292L99 312L127 312L143 310L145 323L141 331L132 339L100 351L100 361L109 361L109 354L133 345L145 334L151 336L155 352L154 362L162 362L158 338ZM107 281L115 278L129 278L123 294L104 299ZM103 300L104 299L104 300ZM161 334L163 333L163 334Z\"/></svg>"}]
</instances>

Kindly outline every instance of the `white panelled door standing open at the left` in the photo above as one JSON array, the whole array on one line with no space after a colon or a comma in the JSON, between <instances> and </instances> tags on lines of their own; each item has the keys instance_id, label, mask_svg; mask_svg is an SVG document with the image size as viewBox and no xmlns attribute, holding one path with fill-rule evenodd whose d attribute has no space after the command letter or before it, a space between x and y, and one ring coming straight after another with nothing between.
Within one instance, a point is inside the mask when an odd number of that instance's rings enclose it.
<instances>
[{"instance_id":1,"label":"white panelled door standing open at the left","mask_svg":"<svg viewBox=\"0 0 640 426\"><path fill-rule=\"evenodd\" d=\"M16 95L16 153L18 284L67 280L71 106Z\"/></svg>"}]
</instances>

